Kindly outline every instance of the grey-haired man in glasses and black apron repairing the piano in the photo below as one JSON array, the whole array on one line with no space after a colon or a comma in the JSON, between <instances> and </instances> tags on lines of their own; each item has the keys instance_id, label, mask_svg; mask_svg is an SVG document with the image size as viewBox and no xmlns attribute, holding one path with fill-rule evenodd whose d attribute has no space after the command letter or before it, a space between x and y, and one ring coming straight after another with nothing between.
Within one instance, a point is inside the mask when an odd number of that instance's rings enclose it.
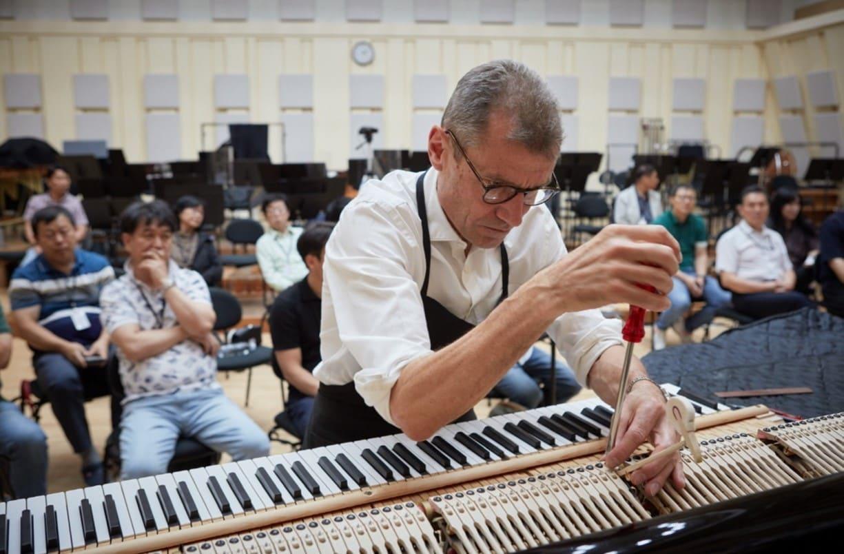
<instances>
[{"instance_id":1,"label":"grey-haired man in glasses and black apron repairing the piano","mask_svg":"<svg viewBox=\"0 0 844 554\"><path fill-rule=\"evenodd\" d=\"M320 386L306 446L396 432L419 441L470 419L546 330L578 381L614 403L621 323L595 308L668 308L679 245L661 226L609 225L566 254L541 205L559 192L562 134L538 73L484 63L460 79L430 129L432 167L362 187L326 247ZM637 359L629 383L611 466L644 440L657 449L679 440ZM632 479L654 494L669 476L683 486L679 457Z\"/></svg>"}]
</instances>

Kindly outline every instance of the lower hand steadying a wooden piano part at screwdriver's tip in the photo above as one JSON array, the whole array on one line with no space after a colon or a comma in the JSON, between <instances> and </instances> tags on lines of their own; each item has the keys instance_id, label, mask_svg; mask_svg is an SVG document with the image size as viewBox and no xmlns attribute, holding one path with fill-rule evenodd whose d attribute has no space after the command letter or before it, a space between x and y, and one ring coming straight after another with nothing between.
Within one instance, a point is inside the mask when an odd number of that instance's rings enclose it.
<instances>
[{"instance_id":1,"label":"lower hand steadying a wooden piano part at screwdriver's tip","mask_svg":"<svg viewBox=\"0 0 844 554\"><path fill-rule=\"evenodd\" d=\"M657 390L657 385L641 382L625 398L615 448L607 454L606 464L609 468L619 466L647 440L652 443L654 452L659 452L677 443L679 434L668 421L665 399ZM644 486L645 493L652 497L668 481L669 475L676 488L684 486L683 464L679 454L641 467L630 475L630 481L636 486Z\"/></svg>"}]
</instances>

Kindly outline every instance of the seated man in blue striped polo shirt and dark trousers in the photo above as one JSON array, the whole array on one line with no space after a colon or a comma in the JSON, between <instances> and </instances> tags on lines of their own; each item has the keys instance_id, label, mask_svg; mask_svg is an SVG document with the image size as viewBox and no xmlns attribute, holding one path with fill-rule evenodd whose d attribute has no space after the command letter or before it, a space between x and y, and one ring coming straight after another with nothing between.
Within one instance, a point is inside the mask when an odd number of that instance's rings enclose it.
<instances>
[{"instance_id":1,"label":"seated man in blue striped polo shirt and dark trousers","mask_svg":"<svg viewBox=\"0 0 844 554\"><path fill-rule=\"evenodd\" d=\"M86 359L109 356L109 337L100 324L100 291L114 269L100 254L77 248L73 215L48 206L32 216L41 254L15 269L9 284L11 323L33 351L41 388L73 452L82 458L88 486L105 478L100 454L85 420L85 391L108 394L105 363Z\"/></svg>"}]
</instances>

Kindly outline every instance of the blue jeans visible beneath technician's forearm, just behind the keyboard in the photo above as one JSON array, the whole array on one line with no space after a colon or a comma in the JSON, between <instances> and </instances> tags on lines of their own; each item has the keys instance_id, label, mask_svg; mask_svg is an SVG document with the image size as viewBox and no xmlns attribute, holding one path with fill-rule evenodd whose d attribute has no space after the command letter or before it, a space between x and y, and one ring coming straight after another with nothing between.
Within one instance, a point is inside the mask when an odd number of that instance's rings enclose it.
<instances>
[{"instance_id":1,"label":"blue jeans visible beneath technician's forearm, just behind the keyboard","mask_svg":"<svg viewBox=\"0 0 844 554\"><path fill-rule=\"evenodd\" d=\"M555 361L557 377L557 401L565 402L580 392L580 383L568 366ZM516 363L501 377L495 385L495 391L503 394L513 402L525 408L536 408L543 398L543 389L539 388L540 381L547 383L551 377L551 355L536 347L531 349L531 355L523 364Z\"/></svg>"}]
</instances>

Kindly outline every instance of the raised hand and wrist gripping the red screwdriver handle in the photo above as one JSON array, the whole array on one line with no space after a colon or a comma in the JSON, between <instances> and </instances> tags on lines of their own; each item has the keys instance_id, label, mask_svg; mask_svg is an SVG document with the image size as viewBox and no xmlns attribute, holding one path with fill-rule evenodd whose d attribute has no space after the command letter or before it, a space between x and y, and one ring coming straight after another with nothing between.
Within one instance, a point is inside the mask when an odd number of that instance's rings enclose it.
<instances>
[{"instance_id":1,"label":"raised hand and wrist gripping the red screwdriver handle","mask_svg":"<svg viewBox=\"0 0 844 554\"><path fill-rule=\"evenodd\" d=\"M559 313L625 302L652 312L671 306L665 296L680 260L679 244L662 225L608 225L533 278ZM657 293L638 284L653 285Z\"/></svg>"}]
</instances>

